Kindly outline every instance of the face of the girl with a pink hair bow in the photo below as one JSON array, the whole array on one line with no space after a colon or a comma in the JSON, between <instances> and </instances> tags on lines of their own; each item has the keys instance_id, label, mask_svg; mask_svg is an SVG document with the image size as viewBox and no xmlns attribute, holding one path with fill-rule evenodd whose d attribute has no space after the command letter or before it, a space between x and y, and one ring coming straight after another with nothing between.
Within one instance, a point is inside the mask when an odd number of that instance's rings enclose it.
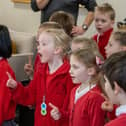
<instances>
[{"instance_id":1,"label":"face of the girl with a pink hair bow","mask_svg":"<svg viewBox=\"0 0 126 126\"><path fill-rule=\"evenodd\" d=\"M89 79L87 67L79 62L74 55L70 57L70 74L73 80L73 83L83 83Z\"/></svg>"}]
</instances>

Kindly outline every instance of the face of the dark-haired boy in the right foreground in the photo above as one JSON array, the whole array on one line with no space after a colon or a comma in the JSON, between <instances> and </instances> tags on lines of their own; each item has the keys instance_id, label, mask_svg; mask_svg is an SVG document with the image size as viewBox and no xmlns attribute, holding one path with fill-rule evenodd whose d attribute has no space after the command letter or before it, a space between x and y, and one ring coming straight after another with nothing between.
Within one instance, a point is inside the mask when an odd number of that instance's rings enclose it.
<instances>
[{"instance_id":1,"label":"face of the dark-haired boy in the right foreground","mask_svg":"<svg viewBox=\"0 0 126 126\"><path fill-rule=\"evenodd\" d=\"M108 98L110 99L110 101L113 104L117 104L116 95L115 95L114 90L112 89L112 87L110 85L109 80L107 79L106 76L104 76L104 79L105 79L105 91L106 91Z\"/></svg>"}]
</instances>

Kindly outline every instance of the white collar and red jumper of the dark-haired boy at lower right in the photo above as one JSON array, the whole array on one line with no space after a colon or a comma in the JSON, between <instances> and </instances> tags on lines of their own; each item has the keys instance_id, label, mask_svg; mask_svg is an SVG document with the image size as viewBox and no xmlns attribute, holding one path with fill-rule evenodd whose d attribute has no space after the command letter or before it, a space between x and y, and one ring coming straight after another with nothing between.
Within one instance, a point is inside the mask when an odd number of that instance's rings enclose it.
<instances>
[{"instance_id":1,"label":"white collar and red jumper of the dark-haired boy at lower right","mask_svg":"<svg viewBox=\"0 0 126 126\"><path fill-rule=\"evenodd\" d=\"M126 125L126 105L116 109L117 118L107 123L105 126L125 126Z\"/></svg>"}]
</instances>

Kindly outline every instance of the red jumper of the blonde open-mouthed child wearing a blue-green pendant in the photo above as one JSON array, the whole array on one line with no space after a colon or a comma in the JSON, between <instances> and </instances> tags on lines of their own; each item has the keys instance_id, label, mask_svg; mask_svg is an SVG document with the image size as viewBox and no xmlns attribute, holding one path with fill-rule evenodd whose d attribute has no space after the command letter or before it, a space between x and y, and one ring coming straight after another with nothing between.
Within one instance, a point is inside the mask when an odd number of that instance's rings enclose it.
<instances>
[{"instance_id":1,"label":"red jumper of the blonde open-mouthed child wearing a blue-green pendant","mask_svg":"<svg viewBox=\"0 0 126 126\"><path fill-rule=\"evenodd\" d=\"M35 105L35 126L68 126L68 120L60 119L55 121L50 116L51 102L61 111L67 111L70 92L73 87L69 74L70 64L64 64L53 74L48 72L48 64L39 65L39 70L35 72L34 79L27 87L18 84L12 92L13 99L23 105ZM46 96L47 115L41 115L41 104L43 96Z\"/></svg>"}]
</instances>

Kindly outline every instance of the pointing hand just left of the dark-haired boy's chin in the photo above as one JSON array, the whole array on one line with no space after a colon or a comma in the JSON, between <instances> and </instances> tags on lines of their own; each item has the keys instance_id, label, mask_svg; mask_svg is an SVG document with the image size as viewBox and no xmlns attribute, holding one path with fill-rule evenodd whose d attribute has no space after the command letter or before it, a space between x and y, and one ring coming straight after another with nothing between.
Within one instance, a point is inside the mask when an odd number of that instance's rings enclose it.
<instances>
[{"instance_id":1,"label":"pointing hand just left of the dark-haired boy's chin","mask_svg":"<svg viewBox=\"0 0 126 126\"><path fill-rule=\"evenodd\" d=\"M112 112L113 111L112 102L109 101L109 99L105 95L103 95L103 97L105 98L105 101L101 105L102 110L107 111L107 112Z\"/></svg>"}]
</instances>

